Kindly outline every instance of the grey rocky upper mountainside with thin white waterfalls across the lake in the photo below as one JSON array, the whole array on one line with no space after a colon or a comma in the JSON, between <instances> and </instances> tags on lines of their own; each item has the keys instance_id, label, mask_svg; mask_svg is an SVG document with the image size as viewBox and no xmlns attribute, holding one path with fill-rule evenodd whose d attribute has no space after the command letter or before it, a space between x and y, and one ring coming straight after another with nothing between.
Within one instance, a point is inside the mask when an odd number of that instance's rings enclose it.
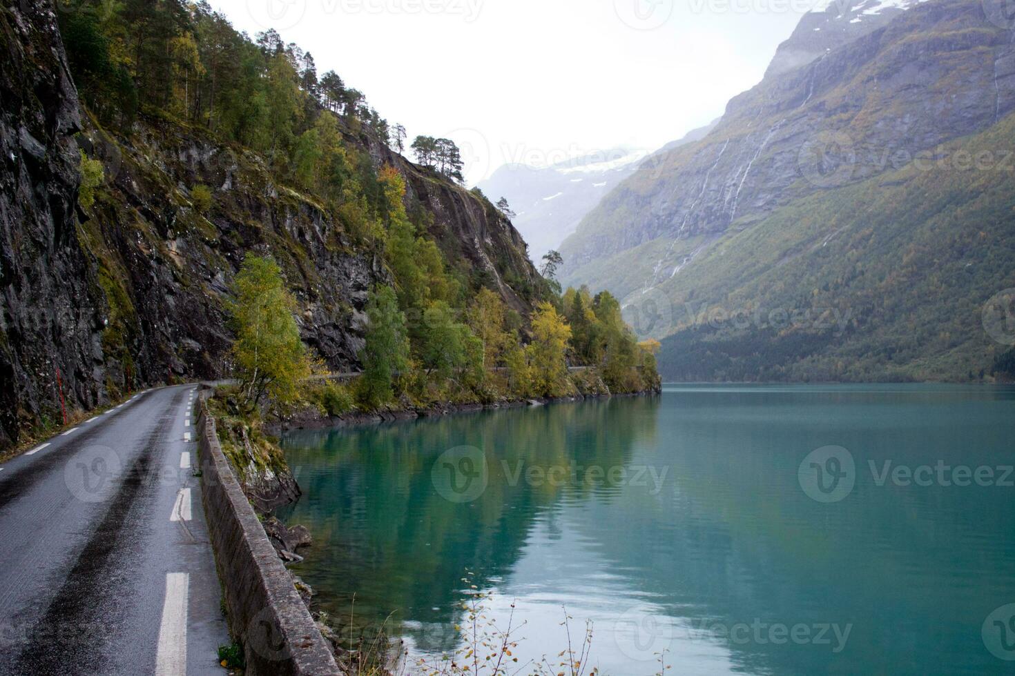
<instances>
[{"instance_id":1,"label":"grey rocky upper mountainside with thin white waterfalls across the lake","mask_svg":"<svg viewBox=\"0 0 1015 676\"><path fill-rule=\"evenodd\" d=\"M1015 109L1015 49L989 4L806 15L704 140L646 162L585 219L561 247L564 280L621 296L656 287L731 227L996 124Z\"/></svg>"}]
</instances>

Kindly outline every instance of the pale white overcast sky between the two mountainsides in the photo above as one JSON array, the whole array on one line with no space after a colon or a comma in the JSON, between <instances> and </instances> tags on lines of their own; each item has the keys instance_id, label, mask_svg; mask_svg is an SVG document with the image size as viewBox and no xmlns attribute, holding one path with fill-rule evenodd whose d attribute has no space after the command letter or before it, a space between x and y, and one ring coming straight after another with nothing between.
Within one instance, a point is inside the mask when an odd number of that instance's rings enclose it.
<instances>
[{"instance_id":1,"label":"pale white overcast sky between the two mountainsides","mask_svg":"<svg viewBox=\"0 0 1015 676\"><path fill-rule=\"evenodd\" d=\"M812 0L212 0L273 26L393 125L500 164L656 149L761 79Z\"/></svg>"}]
</instances>

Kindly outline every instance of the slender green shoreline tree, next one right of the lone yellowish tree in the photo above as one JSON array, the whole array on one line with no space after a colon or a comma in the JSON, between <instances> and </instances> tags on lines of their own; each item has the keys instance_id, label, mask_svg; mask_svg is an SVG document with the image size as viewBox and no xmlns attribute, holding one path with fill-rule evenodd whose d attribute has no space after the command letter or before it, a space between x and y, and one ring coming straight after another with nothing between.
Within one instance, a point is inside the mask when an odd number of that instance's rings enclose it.
<instances>
[{"instance_id":1,"label":"slender green shoreline tree, next one right of the lone yellowish tree","mask_svg":"<svg viewBox=\"0 0 1015 676\"><path fill-rule=\"evenodd\" d=\"M409 340L405 314L389 286L374 289L366 303L366 345L359 354L363 365L360 397L370 406L386 403L394 396L395 376L408 368Z\"/></svg>"}]
</instances>

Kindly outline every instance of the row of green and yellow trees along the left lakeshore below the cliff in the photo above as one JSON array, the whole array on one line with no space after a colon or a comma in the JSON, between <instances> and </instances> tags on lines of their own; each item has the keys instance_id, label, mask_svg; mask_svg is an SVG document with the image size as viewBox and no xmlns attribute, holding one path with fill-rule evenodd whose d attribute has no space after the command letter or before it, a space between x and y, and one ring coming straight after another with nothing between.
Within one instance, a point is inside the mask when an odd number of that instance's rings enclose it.
<instances>
[{"instance_id":1,"label":"row of green and yellow trees along the left lakeshore below the cliff","mask_svg":"<svg viewBox=\"0 0 1015 676\"><path fill-rule=\"evenodd\" d=\"M400 264L406 268L400 277L416 279L412 292L400 298L387 285L370 292L362 374L336 382L299 341L294 301L278 266L248 255L229 305L241 383L230 395L236 412L285 415L310 405L335 417L659 386L658 344L636 343L610 294L568 289L556 303L540 303L525 326L489 289L453 307L447 298L461 296L431 291L453 286L443 268L424 270L418 260L410 253Z\"/></svg>"}]
</instances>

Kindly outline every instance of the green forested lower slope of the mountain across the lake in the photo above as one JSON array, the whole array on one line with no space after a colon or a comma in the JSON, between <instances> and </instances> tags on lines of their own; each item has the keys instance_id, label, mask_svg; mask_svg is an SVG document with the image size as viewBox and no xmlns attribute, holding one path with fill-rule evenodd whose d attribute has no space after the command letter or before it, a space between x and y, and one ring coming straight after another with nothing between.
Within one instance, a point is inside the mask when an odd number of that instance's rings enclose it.
<instances>
[{"instance_id":1,"label":"green forested lower slope of the mountain across the lake","mask_svg":"<svg viewBox=\"0 0 1015 676\"><path fill-rule=\"evenodd\" d=\"M725 235L663 285L660 362L683 381L979 379L1007 350L984 304L1012 287L1015 114Z\"/></svg>"}]
</instances>

